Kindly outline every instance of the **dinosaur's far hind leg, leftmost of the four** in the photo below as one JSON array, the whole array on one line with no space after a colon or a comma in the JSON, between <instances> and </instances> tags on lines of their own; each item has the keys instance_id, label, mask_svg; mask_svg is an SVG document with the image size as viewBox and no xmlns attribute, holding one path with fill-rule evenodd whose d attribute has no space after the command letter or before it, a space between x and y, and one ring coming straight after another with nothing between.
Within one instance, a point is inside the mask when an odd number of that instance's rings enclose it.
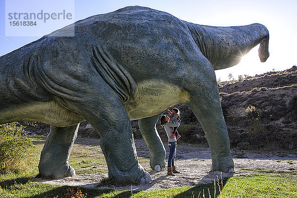
<instances>
[{"instance_id":1,"label":"dinosaur's far hind leg, leftmost of the four","mask_svg":"<svg viewBox=\"0 0 297 198\"><path fill-rule=\"evenodd\" d=\"M38 165L39 173L45 177L75 176L75 170L68 164L70 151L77 137L78 125L50 127Z\"/></svg>"}]
</instances>

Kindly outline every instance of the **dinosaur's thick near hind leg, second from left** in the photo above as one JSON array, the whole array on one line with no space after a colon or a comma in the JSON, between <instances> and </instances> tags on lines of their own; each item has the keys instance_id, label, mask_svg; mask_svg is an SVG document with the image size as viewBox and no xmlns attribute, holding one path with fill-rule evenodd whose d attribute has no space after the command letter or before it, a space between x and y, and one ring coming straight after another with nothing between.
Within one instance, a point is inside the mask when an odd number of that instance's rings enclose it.
<instances>
[{"instance_id":1,"label":"dinosaur's thick near hind leg, second from left","mask_svg":"<svg viewBox=\"0 0 297 198\"><path fill-rule=\"evenodd\" d=\"M138 162L131 122L122 100L107 86L96 89L90 89L90 95L86 92L84 102L68 103L99 133L109 178L117 182L150 182L150 175Z\"/></svg>"}]
</instances>

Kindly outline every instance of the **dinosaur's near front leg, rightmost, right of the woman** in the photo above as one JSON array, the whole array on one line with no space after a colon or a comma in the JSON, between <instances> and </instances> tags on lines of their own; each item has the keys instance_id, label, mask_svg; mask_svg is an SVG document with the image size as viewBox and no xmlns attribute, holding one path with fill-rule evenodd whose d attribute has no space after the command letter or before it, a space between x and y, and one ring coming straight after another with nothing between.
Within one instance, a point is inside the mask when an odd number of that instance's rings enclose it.
<instances>
[{"instance_id":1,"label":"dinosaur's near front leg, rightmost, right of the woman","mask_svg":"<svg viewBox=\"0 0 297 198\"><path fill-rule=\"evenodd\" d=\"M233 172L234 162L230 155L230 140L222 113L215 73L210 63L205 65L204 61L196 82L198 83L188 83L191 97L187 104L205 132L212 158L211 169Z\"/></svg>"}]
</instances>

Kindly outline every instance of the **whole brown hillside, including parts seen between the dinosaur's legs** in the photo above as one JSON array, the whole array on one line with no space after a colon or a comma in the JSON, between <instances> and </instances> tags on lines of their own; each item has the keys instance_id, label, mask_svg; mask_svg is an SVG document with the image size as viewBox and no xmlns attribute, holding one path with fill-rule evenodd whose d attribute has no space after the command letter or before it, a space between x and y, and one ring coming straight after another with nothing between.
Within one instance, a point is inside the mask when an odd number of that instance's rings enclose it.
<instances>
[{"instance_id":1,"label":"whole brown hillside, including parts seen between the dinosaur's legs","mask_svg":"<svg viewBox=\"0 0 297 198\"><path fill-rule=\"evenodd\" d=\"M267 72L241 81L222 82L219 94L227 124L231 148L296 150L297 149L297 67ZM181 111L182 124L178 131L184 143L207 146L204 132L194 113L184 104L175 105ZM251 107L253 106L253 107ZM246 112L247 107L249 112ZM166 113L166 112L164 112ZM79 136L99 138L92 128L81 123ZM164 129L157 124L162 141ZM135 138L142 138L138 121L132 121ZM37 123L27 131L49 132L49 126Z\"/></svg>"}]
</instances>

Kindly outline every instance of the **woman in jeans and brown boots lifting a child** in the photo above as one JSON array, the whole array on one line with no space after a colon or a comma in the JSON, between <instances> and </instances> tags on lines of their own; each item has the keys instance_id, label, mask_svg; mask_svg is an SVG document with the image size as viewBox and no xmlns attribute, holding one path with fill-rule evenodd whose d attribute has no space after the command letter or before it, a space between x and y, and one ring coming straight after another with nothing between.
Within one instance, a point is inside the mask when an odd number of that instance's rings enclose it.
<instances>
[{"instance_id":1,"label":"woman in jeans and brown boots lifting a child","mask_svg":"<svg viewBox=\"0 0 297 198\"><path fill-rule=\"evenodd\" d=\"M174 176L173 173L180 173L175 169L174 158L176 156L176 138L170 138L173 131L173 127L179 126L177 123L169 122L170 118L167 115L162 115L160 117L160 124L164 127L166 135L168 137L168 146L169 146L169 156L168 156L168 167L167 175Z\"/></svg>"}]
</instances>

